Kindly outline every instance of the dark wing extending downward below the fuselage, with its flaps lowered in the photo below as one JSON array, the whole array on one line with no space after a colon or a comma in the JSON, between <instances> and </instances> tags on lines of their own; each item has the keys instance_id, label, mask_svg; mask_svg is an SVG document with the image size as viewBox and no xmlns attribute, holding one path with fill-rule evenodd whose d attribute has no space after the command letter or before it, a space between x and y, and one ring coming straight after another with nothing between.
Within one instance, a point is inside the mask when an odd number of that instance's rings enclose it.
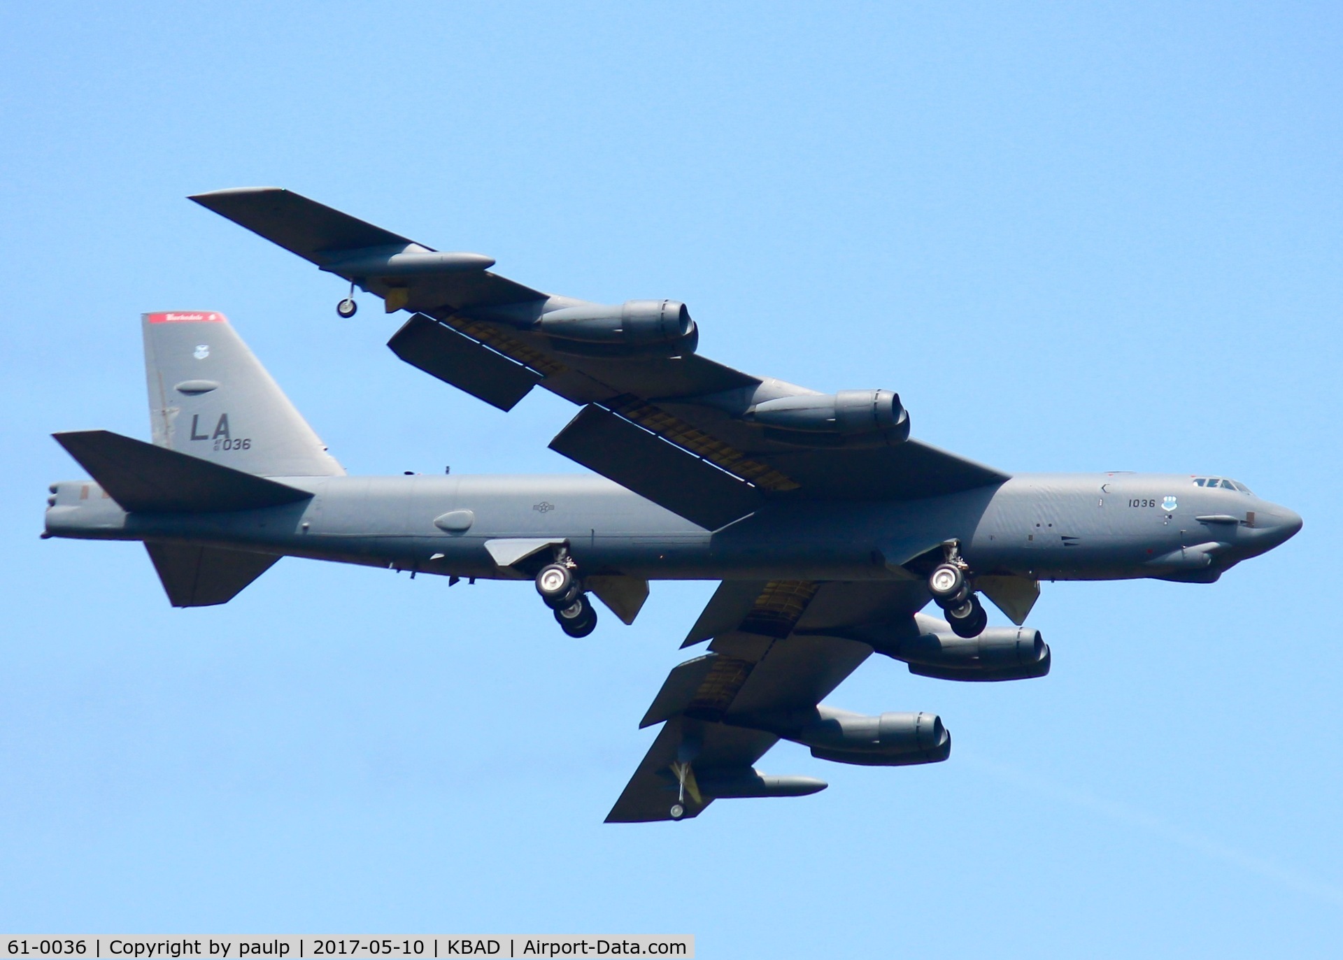
<instances>
[{"instance_id":1,"label":"dark wing extending downward below the fuselage, with its flaps lowered","mask_svg":"<svg viewBox=\"0 0 1343 960\"><path fill-rule=\"evenodd\" d=\"M688 642L709 651L667 675L641 726L663 724L607 823L698 816L714 799L798 796L813 777L770 776L753 764L779 736L761 718L815 708L872 654L845 634L912 618L908 581L725 580Z\"/></svg>"}]
</instances>

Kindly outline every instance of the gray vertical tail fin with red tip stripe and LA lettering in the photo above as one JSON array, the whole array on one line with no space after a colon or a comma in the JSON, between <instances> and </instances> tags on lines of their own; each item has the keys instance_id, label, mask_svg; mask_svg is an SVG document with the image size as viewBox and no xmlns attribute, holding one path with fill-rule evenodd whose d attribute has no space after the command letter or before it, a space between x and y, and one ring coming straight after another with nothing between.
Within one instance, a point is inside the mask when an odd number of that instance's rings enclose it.
<instances>
[{"instance_id":1,"label":"gray vertical tail fin with red tip stripe and LA lettering","mask_svg":"<svg viewBox=\"0 0 1343 960\"><path fill-rule=\"evenodd\" d=\"M259 477L345 473L224 314L146 313L142 322L156 446Z\"/></svg>"}]
</instances>

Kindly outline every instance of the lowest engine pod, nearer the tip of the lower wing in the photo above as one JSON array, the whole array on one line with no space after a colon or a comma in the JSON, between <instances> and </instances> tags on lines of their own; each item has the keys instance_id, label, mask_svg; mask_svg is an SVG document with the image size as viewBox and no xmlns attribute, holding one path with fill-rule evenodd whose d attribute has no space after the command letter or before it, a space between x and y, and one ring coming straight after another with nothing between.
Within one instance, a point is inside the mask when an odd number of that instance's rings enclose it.
<instances>
[{"instance_id":1,"label":"lowest engine pod, nearer the tip of the lower wing","mask_svg":"<svg viewBox=\"0 0 1343 960\"><path fill-rule=\"evenodd\" d=\"M817 717L795 736L811 756L864 767L931 764L951 756L951 734L935 713L882 713L870 717L818 706Z\"/></svg>"}]
</instances>

